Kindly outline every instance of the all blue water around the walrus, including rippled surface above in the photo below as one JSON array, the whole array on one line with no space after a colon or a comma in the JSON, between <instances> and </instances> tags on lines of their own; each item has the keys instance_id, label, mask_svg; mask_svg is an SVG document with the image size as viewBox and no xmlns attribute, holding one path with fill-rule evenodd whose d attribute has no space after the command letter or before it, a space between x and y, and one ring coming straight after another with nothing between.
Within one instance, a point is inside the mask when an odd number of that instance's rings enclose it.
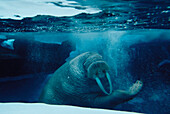
<instances>
[{"instance_id":1,"label":"all blue water around the walrus, including rippled surface above","mask_svg":"<svg viewBox=\"0 0 170 114\"><path fill-rule=\"evenodd\" d=\"M66 61L86 51L101 54L108 62L114 89L128 89L137 79L143 89L132 100L113 109L148 114L169 113L170 2L168 0L75 0L62 5L101 11L70 17L35 16L21 20L0 19L0 39L26 38L61 45L76 45ZM73 5L73 6L72 6ZM47 67L48 68L48 67ZM37 102L51 72L1 76L0 102Z\"/></svg>"}]
</instances>

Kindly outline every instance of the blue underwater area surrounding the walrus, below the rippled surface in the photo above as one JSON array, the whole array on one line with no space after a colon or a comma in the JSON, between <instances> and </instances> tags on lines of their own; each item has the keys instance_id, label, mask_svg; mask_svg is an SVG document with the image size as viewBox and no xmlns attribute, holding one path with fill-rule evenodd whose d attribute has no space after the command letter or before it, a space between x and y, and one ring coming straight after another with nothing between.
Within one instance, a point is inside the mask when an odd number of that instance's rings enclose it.
<instances>
[{"instance_id":1,"label":"blue underwater area surrounding the walrus, below the rippled surface","mask_svg":"<svg viewBox=\"0 0 170 114\"><path fill-rule=\"evenodd\" d=\"M144 113L169 111L169 30L132 30L92 33L12 33L12 36L31 35L35 40L57 43L71 40L76 50L67 61L77 55L95 51L110 66L113 90L127 90L136 80L142 80L143 88L132 100L113 109ZM1 33L1 39L8 33ZM48 73L1 77L1 102L37 102ZM3 105L3 104L1 104ZM161 110L155 107L161 107ZM6 107L7 108L7 107ZM1 109L2 110L2 109Z\"/></svg>"}]
</instances>

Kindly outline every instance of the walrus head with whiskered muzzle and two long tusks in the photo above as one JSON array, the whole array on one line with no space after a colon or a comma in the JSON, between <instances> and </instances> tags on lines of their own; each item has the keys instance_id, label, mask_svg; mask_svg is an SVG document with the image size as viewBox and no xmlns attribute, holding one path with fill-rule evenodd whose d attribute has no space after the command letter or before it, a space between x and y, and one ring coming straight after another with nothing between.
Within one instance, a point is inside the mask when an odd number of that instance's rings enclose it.
<instances>
[{"instance_id":1,"label":"walrus head with whiskered muzzle and two long tusks","mask_svg":"<svg viewBox=\"0 0 170 114\"><path fill-rule=\"evenodd\" d=\"M103 61L102 56L99 54L94 54L88 57L84 63L84 67L87 71L87 77L95 79L100 89L106 94L110 95L113 91L112 82L110 75L108 73L109 66ZM100 78L106 77L109 82L109 92L106 91L103 84L100 81Z\"/></svg>"}]
</instances>

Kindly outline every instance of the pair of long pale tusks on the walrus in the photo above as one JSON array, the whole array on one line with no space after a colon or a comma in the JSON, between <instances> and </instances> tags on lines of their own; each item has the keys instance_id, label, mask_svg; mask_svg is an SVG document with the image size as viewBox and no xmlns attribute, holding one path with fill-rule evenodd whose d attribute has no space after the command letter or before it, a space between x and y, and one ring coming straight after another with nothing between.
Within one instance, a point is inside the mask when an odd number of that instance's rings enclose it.
<instances>
[{"instance_id":1,"label":"pair of long pale tusks on the walrus","mask_svg":"<svg viewBox=\"0 0 170 114\"><path fill-rule=\"evenodd\" d=\"M99 77L96 76L95 79L96 79L96 82L97 82L97 84L99 85L100 89L101 89L106 95L110 95L110 94L112 93L112 91L113 91L113 87L112 87L112 82L111 82L110 75L109 75L109 73L107 73L107 72L106 72L106 78L107 78L107 80L108 80L108 82L109 82L109 89L110 89L109 93L108 93L108 92L106 91L106 89L103 87L103 84L101 83Z\"/></svg>"}]
</instances>

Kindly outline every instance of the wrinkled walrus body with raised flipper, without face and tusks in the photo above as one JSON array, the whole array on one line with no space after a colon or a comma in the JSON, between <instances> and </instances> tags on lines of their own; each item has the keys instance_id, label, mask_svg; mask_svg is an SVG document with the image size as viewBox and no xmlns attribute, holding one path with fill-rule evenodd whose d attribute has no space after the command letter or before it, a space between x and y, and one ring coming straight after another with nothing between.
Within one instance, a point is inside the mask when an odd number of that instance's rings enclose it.
<instances>
[{"instance_id":1,"label":"wrinkled walrus body with raised flipper, without face and tusks","mask_svg":"<svg viewBox=\"0 0 170 114\"><path fill-rule=\"evenodd\" d=\"M96 81L87 76L88 66L84 64L97 60L101 61L99 54L86 52L65 63L47 82L39 102L113 109L138 94L143 85L141 81L136 81L128 91L115 90L111 95L103 94Z\"/></svg>"}]
</instances>

